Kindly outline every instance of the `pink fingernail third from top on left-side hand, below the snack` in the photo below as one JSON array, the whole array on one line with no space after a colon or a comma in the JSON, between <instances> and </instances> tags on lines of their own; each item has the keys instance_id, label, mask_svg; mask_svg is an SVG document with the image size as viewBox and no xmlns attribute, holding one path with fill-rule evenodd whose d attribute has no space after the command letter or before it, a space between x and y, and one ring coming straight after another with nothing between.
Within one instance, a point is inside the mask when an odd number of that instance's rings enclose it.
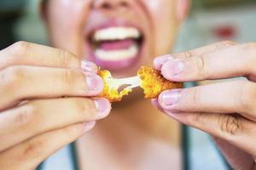
<instances>
[{"instance_id":1,"label":"pink fingernail third from top on left-side hand, below the snack","mask_svg":"<svg viewBox=\"0 0 256 170\"><path fill-rule=\"evenodd\" d=\"M110 111L110 103L108 101L108 99L95 99L95 106L96 106L96 110L98 111L100 116L108 116L108 113Z\"/></svg>"}]
</instances>

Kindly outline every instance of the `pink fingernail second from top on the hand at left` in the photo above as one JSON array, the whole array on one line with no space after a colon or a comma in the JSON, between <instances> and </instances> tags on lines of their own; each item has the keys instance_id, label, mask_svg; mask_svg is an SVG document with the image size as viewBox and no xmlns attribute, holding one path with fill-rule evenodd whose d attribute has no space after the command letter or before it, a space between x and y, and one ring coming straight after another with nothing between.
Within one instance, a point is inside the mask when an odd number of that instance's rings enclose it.
<instances>
[{"instance_id":1,"label":"pink fingernail second from top on the hand at left","mask_svg":"<svg viewBox=\"0 0 256 170\"><path fill-rule=\"evenodd\" d=\"M89 90L90 95L97 95L102 93L102 90L104 88L104 83L102 81L102 78L99 77L96 74L85 74L85 80L87 83L87 88Z\"/></svg>"}]
</instances>

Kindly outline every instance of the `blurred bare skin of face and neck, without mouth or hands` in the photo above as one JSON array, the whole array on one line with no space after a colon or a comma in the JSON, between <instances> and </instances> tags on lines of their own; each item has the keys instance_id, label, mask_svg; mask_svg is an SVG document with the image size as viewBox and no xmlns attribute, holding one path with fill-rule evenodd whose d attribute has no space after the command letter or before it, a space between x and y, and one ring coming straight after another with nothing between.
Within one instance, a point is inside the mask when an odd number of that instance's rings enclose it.
<instances>
[{"instance_id":1,"label":"blurred bare skin of face and neck, without mouth or hands","mask_svg":"<svg viewBox=\"0 0 256 170\"><path fill-rule=\"evenodd\" d=\"M128 7L119 5L123 2ZM105 3L110 7L105 8ZM43 14L50 42L86 59L90 53L84 48L84 35L98 20L117 17L142 28L141 59L124 71L112 71L113 77L130 77L141 65L152 65L155 56L170 52L188 5L188 1L170 0L55 0L44 6ZM102 169L102 165L109 165L109 169L157 169L159 164L165 164L166 169L181 168L179 123L159 114L140 91L113 105L111 113L79 139L81 169Z\"/></svg>"}]
</instances>

